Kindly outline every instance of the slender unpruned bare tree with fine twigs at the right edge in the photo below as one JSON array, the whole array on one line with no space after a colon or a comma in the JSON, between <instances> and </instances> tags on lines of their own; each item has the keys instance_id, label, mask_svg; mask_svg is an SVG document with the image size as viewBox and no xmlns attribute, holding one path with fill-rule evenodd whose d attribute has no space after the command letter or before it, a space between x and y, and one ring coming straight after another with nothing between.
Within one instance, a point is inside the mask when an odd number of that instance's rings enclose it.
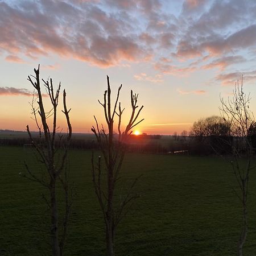
<instances>
[{"instance_id":1,"label":"slender unpruned bare tree with fine twigs at the right edge","mask_svg":"<svg viewBox=\"0 0 256 256\"><path fill-rule=\"evenodd\" d=\"M236 192L242 204L242 230L237 242L237 254L242 255L243 244L246 241L248 232L247 224L247 195L249 188L249 174L251 170L251 156L253 146L249 134L250 127L253 125L253 113L249 109L250 94L243 92L243 78L241 86L237 82L233 90L233 98L224 101L221 98L221 115L230 127L230 134L233 135L232 164L234 175L236 176L240 192Z\"/></svg>"}]
</instances>

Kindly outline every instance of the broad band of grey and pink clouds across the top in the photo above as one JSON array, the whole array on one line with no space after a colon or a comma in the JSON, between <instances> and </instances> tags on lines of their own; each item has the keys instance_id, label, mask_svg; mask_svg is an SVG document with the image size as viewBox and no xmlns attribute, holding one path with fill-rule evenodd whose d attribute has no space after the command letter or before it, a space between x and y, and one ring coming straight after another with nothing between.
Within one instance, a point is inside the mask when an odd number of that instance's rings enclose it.
<instances>
[{"instance_id":1,"label":"broad band of grey and pink clouds across the top","mask_svg":"<svg viewBox=\"0 0 256 256\"><path fill-rule=\"evenodd\" d=\"M234 68L256 44L254 1L183 0L177 13L160 0L11 2L0 1L0 54L17 63L52 54L101 68L151 59L160 73L183 76Z\"/></svg>"}]
</instances>

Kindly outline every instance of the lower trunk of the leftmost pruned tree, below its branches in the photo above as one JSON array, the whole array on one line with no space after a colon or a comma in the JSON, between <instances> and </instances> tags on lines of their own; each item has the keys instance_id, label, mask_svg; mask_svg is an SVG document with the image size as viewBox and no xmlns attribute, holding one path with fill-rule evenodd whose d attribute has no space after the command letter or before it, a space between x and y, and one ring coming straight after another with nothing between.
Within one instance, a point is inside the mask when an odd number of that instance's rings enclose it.
<instances>
[{"instance_id":1,"label":"lower trunk of the leftmost pruned tree, below its branches","mask_svg":"<svg viewBox=\"0 0 256 256\"><path fill-rule=\"evenodd\" d=\"M51 197L51 237L52 237L52 255L60 256L59 238L58 238L58 212L56 202L56 180L51 179L50 197Z\"/></svg>"}]
</instances>

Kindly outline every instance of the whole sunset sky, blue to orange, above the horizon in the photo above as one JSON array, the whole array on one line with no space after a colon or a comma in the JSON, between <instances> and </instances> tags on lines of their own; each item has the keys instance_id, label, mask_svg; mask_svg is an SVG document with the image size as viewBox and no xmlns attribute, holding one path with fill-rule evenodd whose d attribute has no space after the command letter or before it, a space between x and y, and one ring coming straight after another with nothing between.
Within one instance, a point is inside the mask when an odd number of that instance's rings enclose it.
<instances>
[{"instance_id":1,"label":"whole sunset sky, blue to orange, above the horizon","mask_svg":"<svg viewBox=\"0 0 256 256\"><path fill-rule=\"evenodd\" d=\"M0 129L36 130L27 76L38 64L66 90L75 133L89 133L93 115L104 123L106 75L113 96L122 84L123 126L130 90L139 94L141 133L179 134L219 115L242 75L254 111L255 17L255 0L0 0Z\"/></svg>"}]
</instances>

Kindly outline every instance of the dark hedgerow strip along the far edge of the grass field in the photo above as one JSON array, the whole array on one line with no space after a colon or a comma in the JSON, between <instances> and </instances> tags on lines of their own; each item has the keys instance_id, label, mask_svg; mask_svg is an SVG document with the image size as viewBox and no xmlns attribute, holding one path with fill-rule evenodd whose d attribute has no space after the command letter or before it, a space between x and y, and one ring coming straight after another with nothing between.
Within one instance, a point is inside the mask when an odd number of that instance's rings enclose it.
<instances>
[{"instance_id":1,"label":"dark hedgerow strip along the far edge of the grass field","mask_svg":"<svg viewBox=\"0 0 256 256\"><path fill-rule=\"evenodd\" d=\"M38 138L37 142L40 141ZM256 148L256 136L251 137L253 148ZM2 146L30 145L29 138L0 138ZM41 139L43 143L43 139ZM187 136L172 137L165 139L160 135L139 135L131 138L127 144L127 151L156 153L156 154L189 154L189 155L213 155L230 154L232 148L243 148L243 138L231 136ZM61 140L56 147L61 147ZM70 147L73 149L97 150L98 144L95 139L73 138Z\"/></svg>"}]
</instances>

